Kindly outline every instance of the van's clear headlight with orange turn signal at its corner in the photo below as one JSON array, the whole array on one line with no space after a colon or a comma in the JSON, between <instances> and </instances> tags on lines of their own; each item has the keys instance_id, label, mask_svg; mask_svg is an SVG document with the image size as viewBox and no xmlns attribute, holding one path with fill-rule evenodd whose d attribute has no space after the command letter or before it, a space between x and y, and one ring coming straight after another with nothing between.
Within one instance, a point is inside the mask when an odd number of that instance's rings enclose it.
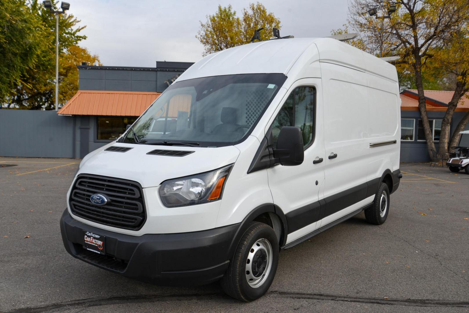
<instances>
[{"instance_id":1,"label":"van's clear headlight with orange turn signal at its corner","mask_svg":"<svg viewBox=\"0 0 469 313\"><path fill-rule=\"evenodd\" d=\"M233 164L211 172L167 180L159 187L159 197L167 207L219 200L232 167Z\"/></svg>"}]
</instances>

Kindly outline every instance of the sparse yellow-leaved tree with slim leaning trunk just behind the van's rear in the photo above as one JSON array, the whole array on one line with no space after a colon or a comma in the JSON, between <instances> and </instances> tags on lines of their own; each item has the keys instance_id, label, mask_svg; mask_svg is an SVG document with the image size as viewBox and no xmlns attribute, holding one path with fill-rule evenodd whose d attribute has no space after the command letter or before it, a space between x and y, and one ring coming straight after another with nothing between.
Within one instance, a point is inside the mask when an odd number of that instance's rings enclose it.
<instances>
[{"instance_id":1,"label":"sparse yellow-leaved tree with slim leaning trunk just behind the van's rear","mask_svg":"<svg viewBox=\"0 0 469 313\"><path fill-rule=\"evenodd\" d=\"M377 8L378 14L395 4L397 11L390 19L369 16L368 10ZM429 155L435 150L433 135L426 111L422 69L434 55L433 48L446 45L453 34L468 21L467 0L352 0L349 6L349 23L362 33L366 46L378 47L383 56L399 55L395 64L403 64L415 77L418 107L424 127Z\"/></svg>"}]
</instances>

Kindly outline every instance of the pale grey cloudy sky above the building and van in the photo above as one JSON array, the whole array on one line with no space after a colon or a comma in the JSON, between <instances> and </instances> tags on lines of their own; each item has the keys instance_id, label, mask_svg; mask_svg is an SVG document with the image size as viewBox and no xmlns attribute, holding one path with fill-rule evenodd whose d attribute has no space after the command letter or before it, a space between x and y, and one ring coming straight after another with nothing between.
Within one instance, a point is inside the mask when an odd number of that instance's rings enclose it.
<instances>
[{"instance_id":1,"label":"pale grey cloudy sky above the building and van","mask_svg":"<svg viewBox=\"0 0 469 313\"><path fill-rule=\"evenodd\" d=\"M202 57L195 38L199 21L231 4L238 16L255 0L68 0L86 25L80 43L107 66L154 67L155 61L194 62ZM347 19L347 0L264 0L280 18L282 36L325 37Z\"/></svg>"}]
</instances>

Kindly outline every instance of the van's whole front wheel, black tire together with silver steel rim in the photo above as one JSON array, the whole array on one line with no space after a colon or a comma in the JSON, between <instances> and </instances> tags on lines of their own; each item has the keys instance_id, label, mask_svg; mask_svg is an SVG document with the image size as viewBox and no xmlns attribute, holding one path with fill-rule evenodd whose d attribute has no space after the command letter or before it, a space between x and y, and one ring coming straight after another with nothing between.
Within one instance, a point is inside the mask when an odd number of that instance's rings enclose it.
<instances>
[{"instance_id":1,"label":"van's whole front wheel, black tire together with silver steel rim","mask_svg":"<svg viewBox=\"0 0 469 313\"><path fill-rule=\"evenodd\" d=\"M267 224L252 222L230 260L221 286L233 298L256 300L272 284L278 262L279 242L274 230Z\"/></svg>"}]
</instances>

